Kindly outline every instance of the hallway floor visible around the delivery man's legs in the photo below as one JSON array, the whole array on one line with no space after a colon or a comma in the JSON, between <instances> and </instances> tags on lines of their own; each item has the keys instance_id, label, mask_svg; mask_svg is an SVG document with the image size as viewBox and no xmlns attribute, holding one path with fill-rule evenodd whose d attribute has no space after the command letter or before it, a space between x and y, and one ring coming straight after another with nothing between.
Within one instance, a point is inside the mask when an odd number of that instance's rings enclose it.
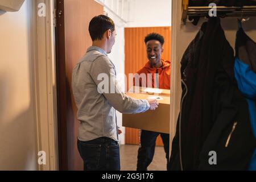
<instances>
[{"instance_id":1,"label":"hallway floor visible around the delivery man's legs","mask_svg":"<svg viewBox=\"0 0 256 182\"><path fill-rule=\"evenodd\" d=\"M121 145L121 171L136 171L137 168L137 145ZM155 147L155 155L148 171L166 171L166 157L163 147Z\"/></svg>"}]
</instances>

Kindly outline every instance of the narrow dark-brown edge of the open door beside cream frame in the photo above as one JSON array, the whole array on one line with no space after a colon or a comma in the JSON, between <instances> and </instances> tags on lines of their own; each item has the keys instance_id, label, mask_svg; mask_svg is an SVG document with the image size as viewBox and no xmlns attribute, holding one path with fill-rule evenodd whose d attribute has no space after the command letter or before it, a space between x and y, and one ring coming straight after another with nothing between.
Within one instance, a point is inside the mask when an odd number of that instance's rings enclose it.
<instances>
[{"instance_id":1,"label":"narrow dark-brown edge of the open door beside cream frame","mask_svg":"<svg viewBox=\"0 0 256 182\"><path fill-rule=\"evenodd\" d=\"M59 140L59 169L68 170L67 84L65 63L64 0L56 1L56 77Z\"/></svg>"}]
</instances>

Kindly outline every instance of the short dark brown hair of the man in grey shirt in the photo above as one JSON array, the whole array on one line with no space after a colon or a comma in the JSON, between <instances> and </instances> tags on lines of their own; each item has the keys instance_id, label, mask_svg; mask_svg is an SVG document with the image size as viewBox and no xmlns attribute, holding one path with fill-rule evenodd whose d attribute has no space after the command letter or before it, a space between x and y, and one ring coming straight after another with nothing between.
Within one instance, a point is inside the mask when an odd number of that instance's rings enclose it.
<instances>
[{"instance_id":1,"label":"short dark brown hair of the man in grey shirt","mask_svg":"<svg viewBox=\"0 0 256 182\"><path fill-rule=\"evenodd\" d=\"M94 16L94 18L90 20L89 33L93 41L101 40L103 38L104 33L109 29L111 31L114 31L115 23L108 16Z\"/></svg>"}]
</instances>

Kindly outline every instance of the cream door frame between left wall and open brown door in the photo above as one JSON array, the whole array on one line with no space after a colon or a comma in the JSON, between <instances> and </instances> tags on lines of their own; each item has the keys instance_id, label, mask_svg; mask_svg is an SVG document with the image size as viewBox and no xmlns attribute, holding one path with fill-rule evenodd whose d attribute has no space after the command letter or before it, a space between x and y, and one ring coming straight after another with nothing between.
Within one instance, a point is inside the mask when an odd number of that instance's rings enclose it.
<instances>
[{"instance_id":1,"label":"cream door frame between left wall and open brown door","mask_svg":"<svg viewBox=\"0 0 256 182\"><path fill-rule=\"evenodd\" d=\"M45 5L46 16L39 16ZM34 49L36 133L38 154L45 154L46 164L37 164L39 171L59 169L59 149L57 141L57 99L55 73L55 32L53 27L54 0L32 1L32 32ZM39 153L42 151L44 154ZM41 155L40 155L41 154Z\"/></svg>"}]
</instances>

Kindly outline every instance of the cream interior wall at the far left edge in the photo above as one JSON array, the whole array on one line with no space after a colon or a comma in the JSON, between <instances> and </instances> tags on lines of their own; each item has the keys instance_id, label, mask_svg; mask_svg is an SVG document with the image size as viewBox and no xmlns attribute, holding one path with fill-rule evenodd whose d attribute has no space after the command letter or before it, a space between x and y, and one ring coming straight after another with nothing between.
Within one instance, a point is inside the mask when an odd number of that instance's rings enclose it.
<instances>
[{"instance_id":1,"label":"cream interior wall at the far left edge","mask_svg":"<svg viewBox=\"0 0 256 182\"><path fill-rule=\"evenodd\" d=\"M36 170L32 1L0 11L0 170Z\"/></svg>"}]
</instances>

